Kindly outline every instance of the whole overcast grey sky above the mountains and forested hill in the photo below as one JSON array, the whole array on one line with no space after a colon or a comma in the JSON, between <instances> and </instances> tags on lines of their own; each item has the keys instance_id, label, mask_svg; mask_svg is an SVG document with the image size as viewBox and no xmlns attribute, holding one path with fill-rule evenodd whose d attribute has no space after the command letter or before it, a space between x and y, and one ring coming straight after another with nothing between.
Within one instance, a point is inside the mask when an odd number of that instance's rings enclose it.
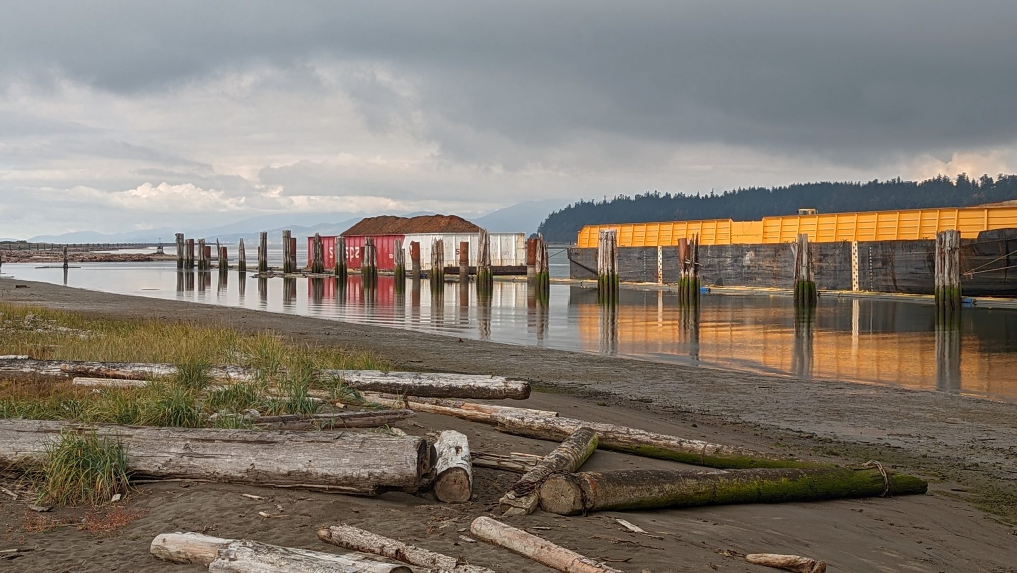
<instances>
[{"instance_id":1,"label":"whole overcast grey sky above the mountains and forested hill","mask_svg":"<svg viewBox=\"0 0 1017 573\"><path fill-rule=\"evenodd\" d=\"M1012 0L0 8L0 237L1017 169Z\"/></svg>"}]
</instances>

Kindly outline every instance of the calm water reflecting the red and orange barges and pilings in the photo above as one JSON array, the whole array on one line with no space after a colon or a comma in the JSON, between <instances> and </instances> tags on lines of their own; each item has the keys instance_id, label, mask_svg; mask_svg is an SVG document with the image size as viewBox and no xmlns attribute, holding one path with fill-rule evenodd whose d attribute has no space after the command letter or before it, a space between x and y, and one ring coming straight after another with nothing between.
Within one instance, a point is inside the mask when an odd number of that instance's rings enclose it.
<instances>
[{"instance_id":1,"label":"calm water reflecting the red and orange barges and pilings","mask_svg":"<svg viewBox=\"0 0 1017 573\"><path fill-rule=\"evenodd\" d=\"M910 301L823 298L812 321L794 321L785 296L704 295L682 310L668 292L622 289L613 311L592 289L551 285L546 307L525 283L494 285L489 306L474 289L427 281L397 296L394 279L365 291L359 277L263 279L230 272L177 273L175 263L83 264L70 269L3 266L4 276L107 292L224 304L512 344L662 362L939 390L1017 400L1017 311L965 308L959 333L936 333L933 307ZM563 255L552 276L567 276Z\"/></svg>"}]
</instances>

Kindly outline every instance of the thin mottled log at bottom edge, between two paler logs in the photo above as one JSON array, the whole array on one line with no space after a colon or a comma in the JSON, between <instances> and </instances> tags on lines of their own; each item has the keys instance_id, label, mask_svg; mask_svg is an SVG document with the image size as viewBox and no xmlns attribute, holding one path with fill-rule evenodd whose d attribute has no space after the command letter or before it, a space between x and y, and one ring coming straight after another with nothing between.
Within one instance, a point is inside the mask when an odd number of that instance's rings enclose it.
<instances>
[{"instance_id":1,"label":"thin mottled log at bottom edge, between two paler logs","mask_svg":"<svg viewBox=\"0 0 1017 573\"><path fill-rule=\"evenodd\" d=\"M494 573L485 567L469 565L455 557L390 539L345 523L318 529L318 538L350 551L372 553L414 567L450 573Z\"/></svg>"}]
</instances>

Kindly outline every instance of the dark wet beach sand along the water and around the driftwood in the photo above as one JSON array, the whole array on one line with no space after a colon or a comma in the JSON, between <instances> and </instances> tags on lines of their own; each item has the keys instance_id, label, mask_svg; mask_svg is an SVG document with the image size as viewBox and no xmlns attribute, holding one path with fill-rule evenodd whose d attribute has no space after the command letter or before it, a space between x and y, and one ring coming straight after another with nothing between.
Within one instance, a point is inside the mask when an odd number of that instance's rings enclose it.
<instances>
[{"instance_id":1,"label":"dark wet beach sand along the water and around the driftwood","mask_svg":"<svg viewBox=\"0 0 1017 573\"><path fill-rule=\"evenodd\" d=\"M15 289L15 282L29 288ZM544 391L515 404L815 459L845 463L877 459L932 481L926 496L894 499L571 518L537 513L510 520L523 527L550 527L534 532L590 557L629 560L614 564L622 571L772 571L716 553L720 550L806 555L827 561L830 571L1017 571L1015 404L460 340L7 279L0 279L0 300L110 318L189 320L285 332L309 342L371 350L406 369L524 378ZM444 416L419 414L397 425L416 435L460 429L476 451L545 453L552 447ZM598 451L584 469L674 466ZM12 570L199 571L155 561L147 554L152 537L165 531L203 530L337 551L318 542L314 531L322 524L346 521L463 555L498 571L547 571L503 550L460 539L459 530L469 527L472 518L494 511L497 498L517 478L483 468L476 473L475 499L464 505L405 494L364 499L213 483L146 484L127 503L129 510L143 515L112 538L96 538L73 527L24 534L20 531L24 505L4 499L0 526L6 533L0 549L36 548L6 564ZM253 501L241 493L266 499ZM277 504L283 507L281 512ZM265 519L258 511L284 517ZM73 510L63 513L77 515ZM623 532L614 522L616 517L653 536Z\"/></svg>"}]
</instances>

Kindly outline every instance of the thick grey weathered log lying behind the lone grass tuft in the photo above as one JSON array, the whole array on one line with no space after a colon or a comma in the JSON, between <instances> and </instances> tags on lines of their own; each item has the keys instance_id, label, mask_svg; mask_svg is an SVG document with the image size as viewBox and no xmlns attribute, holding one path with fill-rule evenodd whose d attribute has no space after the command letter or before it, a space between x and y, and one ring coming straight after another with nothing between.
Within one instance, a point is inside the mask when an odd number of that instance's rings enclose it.
<instances>
[{"instance_id":1,"label":"thick grey weathered log lying behind the lone grass tuft","mask_svg":"<svg viewBox=\"0 0 1017 573\"><path fill-rule=\"evenodd\" d=\"M95 432L124 446L137 477L185 477L251 485L374 495L417 489L431 469L421 438L374 433L139 427L0 419L0 464L37 462L64 433Z\"/></svg>"}]
</instances>

